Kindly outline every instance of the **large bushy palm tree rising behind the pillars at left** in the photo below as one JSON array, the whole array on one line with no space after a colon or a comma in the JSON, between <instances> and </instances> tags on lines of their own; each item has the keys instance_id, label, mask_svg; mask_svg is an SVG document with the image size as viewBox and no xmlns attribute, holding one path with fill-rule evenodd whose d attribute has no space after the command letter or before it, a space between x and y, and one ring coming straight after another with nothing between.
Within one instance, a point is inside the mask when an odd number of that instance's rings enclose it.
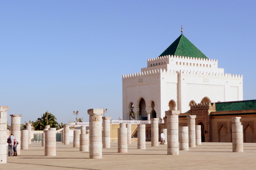
<instances>
[{"instance_id":1,"label":"large bushy palm tree rising behind the pillars at left","mask_svg":"<svg viewBox=\"0 0 256 170\"><path fill-rule=\"evenodd\" d=\"M44 130L46 125L50 125L51 128L58 128L57 118L48 111L41 115L41 118L38 118L33 124L35 130Z\"/></svg>"}]
</instances>

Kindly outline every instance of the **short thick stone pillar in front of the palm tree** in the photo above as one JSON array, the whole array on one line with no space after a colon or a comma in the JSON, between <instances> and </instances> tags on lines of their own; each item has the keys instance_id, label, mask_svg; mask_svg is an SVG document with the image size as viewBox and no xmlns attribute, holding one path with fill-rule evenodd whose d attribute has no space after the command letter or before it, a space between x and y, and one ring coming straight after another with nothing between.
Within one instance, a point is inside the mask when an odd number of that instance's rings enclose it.
<instances>
[{"instance_id":1,"label":"short thick stone pillar in front of the palm tree","mask_svg":"<svg viewBox=\"0 0 256 170\"><path fill-rule=\"evenodd\" d=\"M56 156L56 128L45 131L45 156Z\"/></svg>"}]
</instances>

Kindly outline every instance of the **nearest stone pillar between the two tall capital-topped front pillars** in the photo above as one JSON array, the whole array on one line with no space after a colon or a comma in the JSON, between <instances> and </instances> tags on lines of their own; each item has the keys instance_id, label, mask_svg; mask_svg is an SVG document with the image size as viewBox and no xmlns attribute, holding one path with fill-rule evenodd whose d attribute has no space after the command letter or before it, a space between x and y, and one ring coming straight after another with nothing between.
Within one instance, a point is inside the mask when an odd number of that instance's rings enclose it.
<instances>
[{"instance_id":1,"label":"nearest stone pillar between the two tall capital-topped front pillars","mask_svg":"<svg viewBox=\"0 0 256 170\"><path fill-rule=\"evenodd\" d=\"M120 123L118 131L118 153L127 153L127 128L125 123Z\"/></svg>"}]
</instances>

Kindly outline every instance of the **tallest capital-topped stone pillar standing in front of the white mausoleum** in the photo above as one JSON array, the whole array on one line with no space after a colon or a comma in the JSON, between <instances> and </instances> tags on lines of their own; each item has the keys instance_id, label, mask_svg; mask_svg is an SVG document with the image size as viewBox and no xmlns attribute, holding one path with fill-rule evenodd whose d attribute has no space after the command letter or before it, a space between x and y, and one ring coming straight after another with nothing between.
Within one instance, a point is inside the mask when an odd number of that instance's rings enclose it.
<instances>
[{"instance_id":1,"label":"tallest capital-topped stone pillar standing in front of the white mausoleum","mask_svg":"<svg viewBox=\"0 0 256 170\"><path fill-rule=\"evenodd\" d=\"M167 116L167 155L179 155L180 111L165 111Z\"/></svg>"}]
</instances>

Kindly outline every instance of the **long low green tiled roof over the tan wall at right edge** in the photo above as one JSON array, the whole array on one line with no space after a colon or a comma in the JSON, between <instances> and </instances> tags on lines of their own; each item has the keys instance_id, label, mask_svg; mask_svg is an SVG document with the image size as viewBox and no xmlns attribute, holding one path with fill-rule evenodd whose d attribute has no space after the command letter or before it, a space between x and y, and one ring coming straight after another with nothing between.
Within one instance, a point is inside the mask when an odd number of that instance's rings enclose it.
<instances>
[{"instance_id":1,"label":"long low green tiled roof over the tan wall at right edge","mask_svg":"<svg viewBox=\"0 0 256 170\"><path fill-rule=\"evenodd\" d=\"M256 100L228 101L216 103L216 111L244 111L256 109Z\"/></svg>"}]
</instances>

